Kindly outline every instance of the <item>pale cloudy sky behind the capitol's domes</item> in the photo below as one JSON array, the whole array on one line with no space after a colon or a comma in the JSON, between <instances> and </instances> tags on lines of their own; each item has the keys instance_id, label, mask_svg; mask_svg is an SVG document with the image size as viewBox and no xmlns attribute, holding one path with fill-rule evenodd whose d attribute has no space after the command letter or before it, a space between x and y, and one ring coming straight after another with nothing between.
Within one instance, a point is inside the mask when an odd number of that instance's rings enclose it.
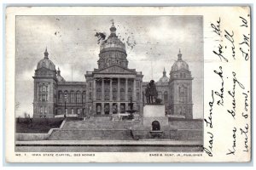
<instances>
[{"instance_id":1,"label":"pale cloudy sky behind the capitol's domes","mask_svg":"<svg viewBox=\"0 0 256 170\"><path fill-rule=\"evenodd\" d=\"M97 31L110 34L114 20L117 35L126 43L128 67L143 71L143 82L167 76L178 50L189 64L193 116L203 117L203 19L201 16L17 16L15 53L15 116L32 115L33 78L38 61L49 59L66 81L84 82L86 71L97 68L100 45ZM73 71L72 71L73 65ZM72 74L73 72L73 74Z\"/></svg>"}]
</instances>

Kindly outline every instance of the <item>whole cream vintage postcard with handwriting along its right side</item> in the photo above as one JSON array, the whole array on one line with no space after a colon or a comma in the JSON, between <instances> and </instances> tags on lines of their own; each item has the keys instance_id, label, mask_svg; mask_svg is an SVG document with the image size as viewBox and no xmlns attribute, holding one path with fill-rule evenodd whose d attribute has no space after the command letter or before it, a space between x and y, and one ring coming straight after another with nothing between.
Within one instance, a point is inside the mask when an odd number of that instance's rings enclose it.
<instances>
[{"instance_id":1,"label":"whole cream vintage postcard with handwriting along its right side","mask_svg":"<svg viewBox=\"0 0 256 170\"><path fill-rule=\"evenodd\" d=\"M251 161L251 10L6 9L6 161Z\"/></svg>"}]
</instances>

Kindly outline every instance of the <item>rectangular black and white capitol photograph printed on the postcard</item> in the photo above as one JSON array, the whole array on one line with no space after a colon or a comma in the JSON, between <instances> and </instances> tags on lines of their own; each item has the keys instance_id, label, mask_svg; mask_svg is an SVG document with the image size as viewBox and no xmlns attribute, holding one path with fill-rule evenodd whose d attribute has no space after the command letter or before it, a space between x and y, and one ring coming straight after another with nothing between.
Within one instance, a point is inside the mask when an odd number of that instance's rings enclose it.
<instances>
[{"instance_id":1,"label":"rectangular black and white capitol photograph printed on the postcard","mask_svg":"<svg viewBox=\"0 0 256 170\"><path fill-rule=\"evenodd\" d=\"M17 16L17 151L202 151L202 16Z\"/></svg>"}]
</instances>

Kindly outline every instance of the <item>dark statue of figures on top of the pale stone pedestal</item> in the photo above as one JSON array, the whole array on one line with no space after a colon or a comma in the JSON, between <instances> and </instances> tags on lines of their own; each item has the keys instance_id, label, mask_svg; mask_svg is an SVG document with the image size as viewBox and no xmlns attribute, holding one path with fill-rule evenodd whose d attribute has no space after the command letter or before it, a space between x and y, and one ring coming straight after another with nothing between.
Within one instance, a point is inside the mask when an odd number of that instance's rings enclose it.
<instances>
[{"instance_id":1,"label":"dark statue of figures on top of the pale stone pedestal","mask_svg":"<svg viewBox=\"0 0 256 170\"><path fill-rule=\"evenodd\" d=\"M147 98L147 104L156 104L157 103L157 90L154 85L154 80L151 80L146 88L145 95Z\"/></svg>"}]
</instances>

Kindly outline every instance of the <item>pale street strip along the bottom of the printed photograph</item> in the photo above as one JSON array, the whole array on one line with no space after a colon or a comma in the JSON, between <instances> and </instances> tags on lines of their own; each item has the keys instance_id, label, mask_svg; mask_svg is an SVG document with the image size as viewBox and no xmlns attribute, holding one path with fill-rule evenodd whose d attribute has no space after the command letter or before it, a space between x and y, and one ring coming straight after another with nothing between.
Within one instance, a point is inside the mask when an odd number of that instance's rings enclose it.
<instances>
[{"instance_id":1,"label":"pale street strip along the bottom of the printed photograph","mask_svg":"<svg viewBox=\"0 0 256 170\"><path fill-rule=\"evenodd\" d=\"M28 152L150 152L202 151L200 141L170 140L59 140L17 141L15 151Z\"/></svg>"}]
</instances>

